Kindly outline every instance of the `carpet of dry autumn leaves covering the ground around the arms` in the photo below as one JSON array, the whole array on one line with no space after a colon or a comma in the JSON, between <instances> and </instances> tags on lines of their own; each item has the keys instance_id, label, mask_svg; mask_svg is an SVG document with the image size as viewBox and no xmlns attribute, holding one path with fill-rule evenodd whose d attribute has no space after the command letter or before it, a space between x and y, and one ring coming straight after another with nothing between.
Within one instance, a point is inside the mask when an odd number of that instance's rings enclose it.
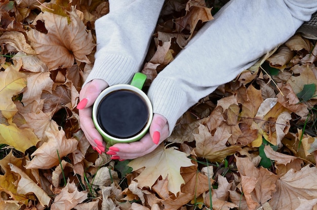
<instances>
[{"instance_id":1,"label":"carpet of dry autumn leaves covering the ground around the arms","mask_svg":"<svg viewBox=\"0 0 317 210\"><path fill-rule=\"evenodd\" d=\"M166 2L147 86L222 6ZM90 147L75 108L108 2L4 0L0 11L1 209L317 208L315 40L295 34L187 110L152 153L114 161Z\"/></svg>"}]
</instances>

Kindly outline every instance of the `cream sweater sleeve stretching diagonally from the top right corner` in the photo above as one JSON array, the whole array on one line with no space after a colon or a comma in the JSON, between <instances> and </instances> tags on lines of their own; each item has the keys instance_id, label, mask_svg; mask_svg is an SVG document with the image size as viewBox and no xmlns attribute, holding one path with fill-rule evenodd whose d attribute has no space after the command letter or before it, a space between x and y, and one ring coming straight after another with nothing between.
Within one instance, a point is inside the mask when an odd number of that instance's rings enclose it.
<instances>
[{"instance_id":1,"label":"cream sweater sleeve stretching diagonally from the top right corner","mask_svg":"<svg viewBox=\"0 0 317 210\"><path fill-rule=\"evenodd\" d=\"M316 10L315 0L231 0L153 80L154 113L167 118L171 134L189 107L284 43Z\"/></svg>"}]
</instances>

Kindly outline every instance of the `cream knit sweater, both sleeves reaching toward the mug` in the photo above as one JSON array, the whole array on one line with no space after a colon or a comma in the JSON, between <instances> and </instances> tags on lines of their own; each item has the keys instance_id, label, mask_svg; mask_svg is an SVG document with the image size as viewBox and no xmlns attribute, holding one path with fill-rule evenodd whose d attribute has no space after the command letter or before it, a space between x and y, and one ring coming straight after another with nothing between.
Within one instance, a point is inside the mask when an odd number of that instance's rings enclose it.
<instances>
[{"instance_id":1,"label":"cream knit sweater, both sleeves reaching toward the mug","mask_svg":"<svg viewBox=\"0 0 317 210\"><path fill-rule=\"evenodd\" d=\"M95 23L96 60L86 83L131 81L142 68L163 3L109 0L110 12ZM231 0L153 80L148 96L154 113L167 118L171 134L189 107L284 43L316 10L316 0Z\"/></svg>"}]
</instances>

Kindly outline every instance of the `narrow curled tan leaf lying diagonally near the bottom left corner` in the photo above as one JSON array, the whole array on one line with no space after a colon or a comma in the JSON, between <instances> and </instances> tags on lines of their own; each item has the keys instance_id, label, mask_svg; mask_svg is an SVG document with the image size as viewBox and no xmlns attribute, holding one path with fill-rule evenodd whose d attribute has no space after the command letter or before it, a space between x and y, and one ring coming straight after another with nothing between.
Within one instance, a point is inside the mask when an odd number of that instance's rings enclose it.
<instances>
[{"instance_id":1,"label":"narrow curled tan leaf lying diagonally near the bottom left corner","mask_svg":"<svg viewBox=\"0 0 317 210\"><path fill-rule=\"evenodd\" d=\"M20 194L34 193L42 206L49 206L51 198L48 194L39 187L33 180L31 180L19 167L12 163L8 163L11 171L16 173L19 177L17 192Z\"/></svg>"}]
</instances>

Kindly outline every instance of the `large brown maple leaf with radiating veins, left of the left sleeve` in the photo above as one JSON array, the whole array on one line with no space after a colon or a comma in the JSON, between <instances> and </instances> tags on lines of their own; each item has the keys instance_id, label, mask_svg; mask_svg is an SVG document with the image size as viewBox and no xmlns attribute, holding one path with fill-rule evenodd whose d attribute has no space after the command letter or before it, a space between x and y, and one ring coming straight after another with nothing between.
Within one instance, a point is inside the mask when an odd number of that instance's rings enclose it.
<instances>
[{"instance_id":1,"label":"large brown maple leaf with radiating veins, left of the left sleeve","mask_svg":"<svg viewBox=\"0 0 317 210\"><path fill-rule=\"evenodd\" d=\"M69 16L70 23L67 17L44 12L42 18L48 33L35 29L27 32L31 46L51 70L71 67L74 59L90 63L86 55L95 46L92 34L86 31L85 24L75 11L70 12Z\"/></svg>"}]
</instances>

